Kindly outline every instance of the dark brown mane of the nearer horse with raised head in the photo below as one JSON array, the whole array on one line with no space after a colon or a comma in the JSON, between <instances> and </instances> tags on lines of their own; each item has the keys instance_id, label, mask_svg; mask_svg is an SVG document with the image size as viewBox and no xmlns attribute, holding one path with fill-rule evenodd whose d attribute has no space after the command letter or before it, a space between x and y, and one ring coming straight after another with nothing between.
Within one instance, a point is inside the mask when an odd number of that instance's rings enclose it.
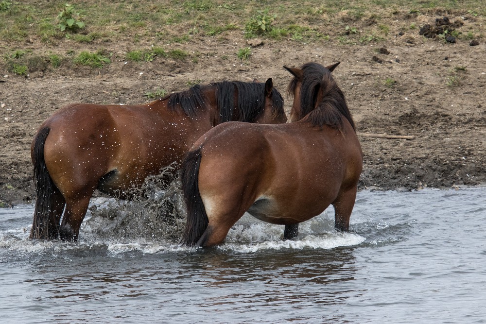
<instances>
[{"instance_id":1,"label":"dark brown mane of the nearer horse with raised head","mask_svg":"<svg viewBox=\"0 0 486 324\"><path fill-rule=\"evenodd\" d=\"M330 70L317 63L306 63L302 66L302 83L300 85L300 116L299 120L307 121L312 126L328 125L342 130L342 116L346 117L356 131L351 112L347 107L343 91L332 78ZM288 94L293 96L299 79L294 77L289 84ZM319 91L323 99L316 102Z\"/></svg>"}]
</instances>

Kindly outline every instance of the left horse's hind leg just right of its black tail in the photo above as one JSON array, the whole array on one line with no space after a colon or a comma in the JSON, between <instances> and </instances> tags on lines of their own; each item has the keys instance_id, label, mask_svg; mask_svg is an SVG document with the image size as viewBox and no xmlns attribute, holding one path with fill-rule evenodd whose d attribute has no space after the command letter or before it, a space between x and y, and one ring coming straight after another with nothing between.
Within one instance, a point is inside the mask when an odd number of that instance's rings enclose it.
<instances>
[{"instance_id":1,"label":"left horse's hind leg just right of its black tail","mask_svg":"<svg viewBox=\"0 0 486 324\"><path fill-rule=\"evenodd\" d=\"M78 239L79 228L85 218L91 195L92 192L83 195L81 198L66 199L66 210L59 227L59 238L61 240L76 241Z\"/></svg>"}]
</instances>

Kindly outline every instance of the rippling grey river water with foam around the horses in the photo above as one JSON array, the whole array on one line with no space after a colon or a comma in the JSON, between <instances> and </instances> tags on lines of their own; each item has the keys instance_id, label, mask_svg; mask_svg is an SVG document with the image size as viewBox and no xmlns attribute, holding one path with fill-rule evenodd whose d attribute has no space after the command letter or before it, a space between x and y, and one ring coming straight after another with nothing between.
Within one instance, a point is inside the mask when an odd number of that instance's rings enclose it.
<instances>
[{"instance_id":1,"label":"rippling grey river water with foam around the horses","mask_svg":"<svg viewBox=\"0 0 486 324\"><path fill-rule=\"evenodd\" d=\"M30 241L33 206L0 209L1 323L486 322L486 188L361 191L349 233L330 207L295 241L244 216L208 249L92 205L78 243Z\"/></svg>"}]
</instances>

